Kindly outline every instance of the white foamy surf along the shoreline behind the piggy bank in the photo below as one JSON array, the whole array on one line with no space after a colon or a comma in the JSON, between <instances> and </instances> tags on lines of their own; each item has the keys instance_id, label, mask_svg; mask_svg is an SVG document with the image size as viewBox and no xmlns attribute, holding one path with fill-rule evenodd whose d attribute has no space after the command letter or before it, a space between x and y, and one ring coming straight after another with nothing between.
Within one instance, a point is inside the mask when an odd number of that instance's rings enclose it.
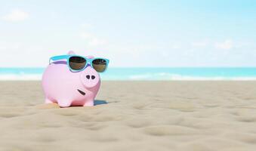
<instances>
[{"instance_id":1,"label":"white foamy surf along the shoreline behind the piggy bank","mask_svg":"<svg viewBox=\"0 0 256 151\"><path fill-rule=\"evenodd\" d=\"M106 74L101 78L107 81L256 81L256 76L192 76L179 75L168 72L142 73L134 75ZM42 74L0 74L0 81L40 81Z\"/></svg>"}]
</instances>

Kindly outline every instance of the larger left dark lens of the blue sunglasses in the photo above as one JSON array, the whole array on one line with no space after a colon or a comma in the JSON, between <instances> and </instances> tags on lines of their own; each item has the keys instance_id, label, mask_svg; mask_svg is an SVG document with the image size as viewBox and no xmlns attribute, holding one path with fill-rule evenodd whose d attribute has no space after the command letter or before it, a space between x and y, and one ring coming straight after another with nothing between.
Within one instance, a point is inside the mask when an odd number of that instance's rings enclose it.
<instances>
[{"instance_id":1,"label":"larger left dark lens of the blue sunglasses","mask_svg":"<svg viewBox=\"0 0 256 151\"><path fill-rule=\"evenodd\" d=\"M74 70L84 69L86 64L86 60L83 57L70 57L69 58L69 66Z\"/></svg>"}]
</instances>

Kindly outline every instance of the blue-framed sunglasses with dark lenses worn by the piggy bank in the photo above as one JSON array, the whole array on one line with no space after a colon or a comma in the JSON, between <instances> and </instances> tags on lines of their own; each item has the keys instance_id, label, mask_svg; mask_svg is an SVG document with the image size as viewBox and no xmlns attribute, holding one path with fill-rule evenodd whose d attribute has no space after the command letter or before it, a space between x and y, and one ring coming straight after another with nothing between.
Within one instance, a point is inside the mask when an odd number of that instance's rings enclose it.
<instances>
[{"instance_id":1,"label":"blue-framed sunglasses with dark lenses worn by the piggy bank","mask_svg":"<svg viewBox=\"0 0 256 151\"><path fill-rule=\"evenodd\" d=\"M106 68L108 66L109 60L105 58L86 58L78 55L61 55L61 56L54 56L51 57L49 60L49 63L51 63L51 60L57 61L57 60L67 60L67 64L69 66L69 69L74 72L79 72L85 69L85 67L88 65L88 63L93 67L97 72L104 72L106 71Z\"/></svg>"}]
</instances>

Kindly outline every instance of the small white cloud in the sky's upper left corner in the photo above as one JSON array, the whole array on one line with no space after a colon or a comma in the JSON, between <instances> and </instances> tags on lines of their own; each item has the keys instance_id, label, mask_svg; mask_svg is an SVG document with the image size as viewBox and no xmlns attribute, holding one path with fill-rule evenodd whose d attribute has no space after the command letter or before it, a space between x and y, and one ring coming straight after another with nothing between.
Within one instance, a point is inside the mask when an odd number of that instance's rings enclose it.
<instances>
[{"instance_id":1,"label":"small white cloud in the sky's upper left corner","mask_svg":"<svg viewBox=\"0 0 256 151\"><path fill-rule=\"evenodd\" d=\"M5 14L5 16L2 17L2 20L19 22L19 21L26 20L28 18L29 18L28 13L19 9L15 9L15 10L12 10L9 14Z\"/></svg>"}]
</instances>

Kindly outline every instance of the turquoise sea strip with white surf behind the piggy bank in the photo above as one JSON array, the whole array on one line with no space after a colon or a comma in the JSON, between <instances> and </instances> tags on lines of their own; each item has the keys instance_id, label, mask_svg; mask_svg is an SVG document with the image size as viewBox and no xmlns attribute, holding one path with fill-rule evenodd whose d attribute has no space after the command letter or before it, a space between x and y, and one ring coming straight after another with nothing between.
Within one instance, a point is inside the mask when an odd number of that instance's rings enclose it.
<instances>
[{"instance_id":1,"label":"turquoise sea strip with white surf behind the piggy bank","mask_svg":"<svg viewBox=\"0 0 256 151\"><path fill-rule=\"evenodd\" d=\"M0 68L0 80L40 80L44 68ZM103 80L256 80L248 68L109 68Z\"/></svg>"}]
</instances>

